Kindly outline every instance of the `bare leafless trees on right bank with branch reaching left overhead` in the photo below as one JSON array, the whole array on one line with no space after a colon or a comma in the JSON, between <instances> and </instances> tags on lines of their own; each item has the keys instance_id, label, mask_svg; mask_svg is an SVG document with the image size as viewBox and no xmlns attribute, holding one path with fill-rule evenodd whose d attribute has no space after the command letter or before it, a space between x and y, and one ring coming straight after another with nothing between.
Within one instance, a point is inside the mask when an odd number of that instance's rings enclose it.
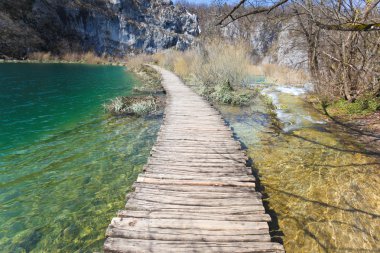
<instances>
[{"instance_id":1,"label":"bare leafless trees on right bank with branch reaching left overhead","mask_svg":"<svg viewBox=\"0 0 380 253\"><path fill-rule=\"evenodd\" d=\"M380 0L240 0L221 13L226 26L252 15L295 19L309 71L324 97L380 96Z\"/></svg>"}]
</instances>

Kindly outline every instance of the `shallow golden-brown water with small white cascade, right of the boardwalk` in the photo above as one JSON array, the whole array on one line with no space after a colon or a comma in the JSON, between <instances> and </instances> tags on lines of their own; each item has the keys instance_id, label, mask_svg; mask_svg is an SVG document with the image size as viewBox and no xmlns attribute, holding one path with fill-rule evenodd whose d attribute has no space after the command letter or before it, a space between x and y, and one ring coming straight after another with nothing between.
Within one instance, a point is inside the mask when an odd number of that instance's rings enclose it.
<instances>
[{"instance_id":1,"label":"shallow golden-brown water with small white cascade, right of the boardwalk","mask_svg":"<svg viewBox=\"0 0 380 253\"><path fill-rule=\"evenodd\" d=\"M241 141L278 217L287 252L378 252L380 159L286 87L271 87L284 128L263 103L220 110Z\"/></svg>"}]
</instances>

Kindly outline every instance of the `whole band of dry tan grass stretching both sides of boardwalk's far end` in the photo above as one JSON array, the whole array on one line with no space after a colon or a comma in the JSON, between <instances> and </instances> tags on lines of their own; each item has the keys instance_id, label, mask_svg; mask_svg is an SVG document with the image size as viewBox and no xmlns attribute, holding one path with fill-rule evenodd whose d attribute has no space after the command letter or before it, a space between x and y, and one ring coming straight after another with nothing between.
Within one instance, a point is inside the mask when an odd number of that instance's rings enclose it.
<instances>
[{"instance_id":1,"label":"whole band of dry tan grass stretching both sides of boardwalk's far end","mask_svg":"<svg viewBox=\"0 0 380 253\"><path fill-rule=\"evenodd\" d=\"M166 50L155 55L128 59L130 68L156 63L170 69L206 98L227 104L246 104L254 92L244 89L251 77L264 75L278 84L304 84L308 76L298 70L276 65L253 65L250 46L242 41L211 39L185 52Z\"/></svg>"}]
</instances>

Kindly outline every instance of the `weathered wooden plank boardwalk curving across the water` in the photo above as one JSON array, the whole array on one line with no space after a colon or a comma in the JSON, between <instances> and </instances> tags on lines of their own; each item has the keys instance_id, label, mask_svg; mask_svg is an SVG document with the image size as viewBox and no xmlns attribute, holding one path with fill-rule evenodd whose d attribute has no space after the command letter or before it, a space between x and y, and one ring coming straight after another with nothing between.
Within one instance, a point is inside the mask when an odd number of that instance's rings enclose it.
<instances>
[{"instance_id":1,"label":"weathered wooden plank boardwalk curving across the water","mask_svg":"<svg viewBox=\"0 0 380 253\"><path fill-rule=\"evenodd\" d=\"M284 252L220 114L169 71L164 123L105 252Z\"/></svg>"}]
</instances>

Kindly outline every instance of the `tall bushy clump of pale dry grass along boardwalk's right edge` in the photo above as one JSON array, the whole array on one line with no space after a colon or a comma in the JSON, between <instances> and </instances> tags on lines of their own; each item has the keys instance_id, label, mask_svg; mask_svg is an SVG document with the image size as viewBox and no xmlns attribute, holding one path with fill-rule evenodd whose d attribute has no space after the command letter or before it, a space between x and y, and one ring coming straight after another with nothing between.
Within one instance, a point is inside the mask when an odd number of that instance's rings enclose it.
<instances>
[{"instance_id":1,"label":"tall bushy clump of pale dry grass along boardwalk's right edge","mask_svg":"<svg viewBox=\"0 0 380 253\"><path fill-rule=\"evenodd\" d=\"M242 42L209 40L203 47L185 52L168 50L154 56L155 61L180 76L209 100L242 105L254 92L243 90L249 72L249 48Z\"/></svg>"}]
</instances>

